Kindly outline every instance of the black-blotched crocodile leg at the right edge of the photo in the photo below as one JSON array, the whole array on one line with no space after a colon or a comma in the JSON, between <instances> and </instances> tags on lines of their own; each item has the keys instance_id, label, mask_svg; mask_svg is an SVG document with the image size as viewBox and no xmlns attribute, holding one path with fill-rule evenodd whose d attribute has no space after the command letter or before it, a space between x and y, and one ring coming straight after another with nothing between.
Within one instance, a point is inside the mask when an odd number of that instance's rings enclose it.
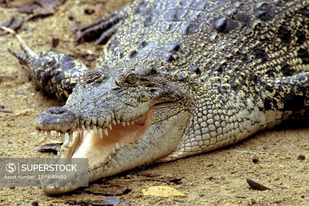
<instances>
[{"instance_id":1,"label":"black-blotched crocodile leg at the right edge of the photo","mask_svg":"<svg viewBox=\"0 0 309 206\"><path fill-rule=\"evenodd\" d=\"M265 127L272 128L288 118L307 118L309 114L309 72L281 78L265 77ZM263 81L263 80L262 80Z\"/></svg>"}]
</instances>

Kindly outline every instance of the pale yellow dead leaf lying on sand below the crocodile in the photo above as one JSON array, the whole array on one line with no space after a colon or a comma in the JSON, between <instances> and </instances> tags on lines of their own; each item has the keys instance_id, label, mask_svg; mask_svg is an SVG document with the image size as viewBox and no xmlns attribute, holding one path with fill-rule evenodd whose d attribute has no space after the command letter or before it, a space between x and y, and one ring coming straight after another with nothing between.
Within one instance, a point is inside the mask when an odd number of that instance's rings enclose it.
<instances>
[{"instance_id":1,"label":"pale yellow dead leaf lying on sand below the crocodile","mask_svg":"<svg viewBox=\"0 0 309 206\"><path fill-rule=\"evenodd\" d=\"M184 193L169 187L169 186L153 186L142 190L144 195L158 196L158 197L186 197Z\"/></svg>"}]
</instances>

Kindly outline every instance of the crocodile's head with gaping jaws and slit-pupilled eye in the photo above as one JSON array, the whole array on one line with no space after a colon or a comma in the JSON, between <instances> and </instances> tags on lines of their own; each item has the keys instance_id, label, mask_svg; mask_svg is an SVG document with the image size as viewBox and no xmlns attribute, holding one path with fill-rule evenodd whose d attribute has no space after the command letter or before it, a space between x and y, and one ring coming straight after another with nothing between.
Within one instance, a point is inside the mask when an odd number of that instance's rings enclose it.
<instances>
[{"instance_id":1,"label":"crocodile's head with gaping jaws and slit-pupilled eye","mask_svg":"<svg viewBox=\"0 0 309 206\"><path fill-rule=\"evenodd\" d=\"M89 182L149 164L177 147L192 109L190 94L165 75L149 63L86 71L66 105L41 113L35 127L69 134L58 157L87 157Z\"/></svg>"}]
</instances>

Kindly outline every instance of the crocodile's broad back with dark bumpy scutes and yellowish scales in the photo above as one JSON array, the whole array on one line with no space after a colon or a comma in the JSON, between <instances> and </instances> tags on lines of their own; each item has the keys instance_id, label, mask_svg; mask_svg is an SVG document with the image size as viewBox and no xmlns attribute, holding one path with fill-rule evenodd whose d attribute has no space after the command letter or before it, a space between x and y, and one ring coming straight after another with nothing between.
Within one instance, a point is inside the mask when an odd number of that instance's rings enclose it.
<instances>
[{"instance_id":1,"label":"crocodile's broad back with dark bumpy scutes and yellowish scales","mask_svg":"<svg viewBox=\"0 0 309 206\"><path fill-rule=\"evenodd\" d=\"M99 64L156 59L196 81L255 84L309 70L308 0L136 1Z\"/></svg>"}]
</instances>

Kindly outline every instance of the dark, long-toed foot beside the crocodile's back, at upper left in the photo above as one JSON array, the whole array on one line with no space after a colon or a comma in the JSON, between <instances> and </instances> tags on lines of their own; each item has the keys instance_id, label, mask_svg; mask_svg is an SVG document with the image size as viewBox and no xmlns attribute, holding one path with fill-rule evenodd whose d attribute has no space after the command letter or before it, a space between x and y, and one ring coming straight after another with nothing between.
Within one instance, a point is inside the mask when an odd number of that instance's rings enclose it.
<instances>
[{"instance_id":1,"label":"dark, long-toed foot beside the crocodile's back, at upper left","mask_svg":"<svg viewBox=\"0 0 309 206\"><path fill-rule=\"evenodd\" d=\"M105 44L108 39L117 31L121 21L127 17L128 8L125 7L114 13L96 19L95 22L81 29L76 40L94 41L97 44Z\"/></svg>"}]
</instances>

